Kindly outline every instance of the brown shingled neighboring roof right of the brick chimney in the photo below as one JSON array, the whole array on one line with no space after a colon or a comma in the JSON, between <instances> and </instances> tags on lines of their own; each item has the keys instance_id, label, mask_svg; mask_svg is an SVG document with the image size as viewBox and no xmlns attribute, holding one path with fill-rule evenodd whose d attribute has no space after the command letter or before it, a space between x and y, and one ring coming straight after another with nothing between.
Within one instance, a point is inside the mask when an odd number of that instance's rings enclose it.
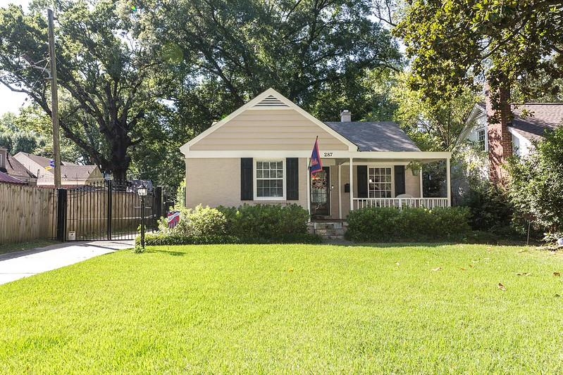
<instances>
[{"instance_id":1,"label":"brown shingled neighboring roof right of the brick chimney","mask_svg":"<svg viewBox=\"0 0 563 375\"><path fill-rule=\"evenodd\" d=\"M512 113L512 128L530 141L541 139L546 130L563 124L563 103L513 104Z\"/></svg>"}]
</instances>

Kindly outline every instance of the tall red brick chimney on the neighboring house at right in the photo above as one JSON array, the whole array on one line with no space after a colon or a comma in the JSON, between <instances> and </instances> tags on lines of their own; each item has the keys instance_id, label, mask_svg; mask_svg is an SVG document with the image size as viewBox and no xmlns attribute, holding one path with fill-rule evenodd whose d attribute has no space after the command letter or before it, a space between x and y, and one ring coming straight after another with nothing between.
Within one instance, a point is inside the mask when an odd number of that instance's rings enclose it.
<instances>
[{"instance_id":1,"label":"tall red brick chimney on the neighboring house at right","mask_svg":"<svg viewBox=\"0 0 563 375\"><path fill-rule=\"evenodd\" d=\"M485 84L485 110L488 122L490 181L504 184L507 171L503 165L512 156L512 134L508 132L512 112L507 80L502 80L498 86L496 92L491 92L489 84Z\"/></svg>"}]
</instances>

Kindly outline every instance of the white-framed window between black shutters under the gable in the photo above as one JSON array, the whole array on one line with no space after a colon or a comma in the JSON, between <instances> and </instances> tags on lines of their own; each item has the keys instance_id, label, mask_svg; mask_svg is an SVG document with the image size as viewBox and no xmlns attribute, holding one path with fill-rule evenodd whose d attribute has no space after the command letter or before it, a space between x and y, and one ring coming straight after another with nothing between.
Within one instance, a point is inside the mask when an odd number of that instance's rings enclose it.
<instances>
[{"instance_id":1,"label":"white-framed window between black shutters under the gable","mask_svg":"<svg viewBox=\"0 0 563 375\"><path fill-rule=\"evenodd\" d=\"M285 199L285 160L254 161L254 199Z\"/></svg>"}]
</instances>

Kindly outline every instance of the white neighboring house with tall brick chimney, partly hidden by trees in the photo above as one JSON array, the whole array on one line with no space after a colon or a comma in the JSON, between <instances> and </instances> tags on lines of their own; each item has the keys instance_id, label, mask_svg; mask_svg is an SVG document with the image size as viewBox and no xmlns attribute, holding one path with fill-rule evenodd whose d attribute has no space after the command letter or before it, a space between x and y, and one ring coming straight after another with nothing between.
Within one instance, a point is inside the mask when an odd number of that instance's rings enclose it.
<instances>
[{"instance_id":1,"label":"white neighboring house with tall brick chimney, partly hidden by trees","mask_svg":"<svg viewBox=\"0 0 563 375\"><path fill-rule=\"evenodd\" d=\"M495 183L502 183L507 177L503 165L509 157L528 155L547 130L563 124L563 103L509 103L508 91L500 97L496 111L489 100L476 104L458 139L458 144L473 141L488 153L483 174Z\"/></svg>"}]
</instances>

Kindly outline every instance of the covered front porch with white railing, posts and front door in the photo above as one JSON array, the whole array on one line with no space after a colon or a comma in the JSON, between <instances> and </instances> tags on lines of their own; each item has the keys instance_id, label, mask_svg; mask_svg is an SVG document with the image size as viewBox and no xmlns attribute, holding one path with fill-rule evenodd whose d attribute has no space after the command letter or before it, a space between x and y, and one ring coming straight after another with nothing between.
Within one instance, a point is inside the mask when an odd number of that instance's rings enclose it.
<instances>
[{"instance_id":1,"label":"covered front porch with white railing, posts and front door","mask_svg":"<svg viewBox=\"0 0 563 375\"><path fill-rule=\"evenodd\" d=\"M308 207L314 221L345 220L351 210L369 207L433 209L451 204L450 153L358 152L352 158L328 154L321 159L323 172L308 175ZM425 196L421 167L434 162L443 162L444 186L439 196Z\"/></svg>"}]
</instances>

